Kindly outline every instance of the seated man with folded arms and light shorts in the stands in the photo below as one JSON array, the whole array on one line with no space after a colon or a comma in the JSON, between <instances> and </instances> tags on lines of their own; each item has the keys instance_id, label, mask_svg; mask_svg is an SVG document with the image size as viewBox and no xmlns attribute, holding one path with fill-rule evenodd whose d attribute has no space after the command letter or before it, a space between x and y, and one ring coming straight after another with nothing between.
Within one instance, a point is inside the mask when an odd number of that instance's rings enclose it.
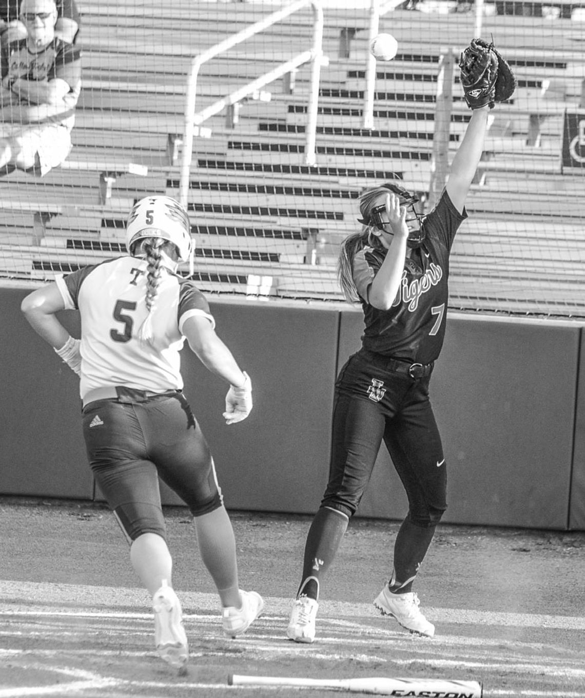
<instances>
[{"instance_id":1,"label":"seated man with folded arms and light shorts in the stands","mask_svg":"<svg viewBox=\"0 0 585 698\"><path fill-rule=\"evenodd\" d=\"M55 36L54 0L22 0L20 19L26 37L1 52L0 174L43 177L71 149L81 56Z\"/></svg>"}]
</instances>

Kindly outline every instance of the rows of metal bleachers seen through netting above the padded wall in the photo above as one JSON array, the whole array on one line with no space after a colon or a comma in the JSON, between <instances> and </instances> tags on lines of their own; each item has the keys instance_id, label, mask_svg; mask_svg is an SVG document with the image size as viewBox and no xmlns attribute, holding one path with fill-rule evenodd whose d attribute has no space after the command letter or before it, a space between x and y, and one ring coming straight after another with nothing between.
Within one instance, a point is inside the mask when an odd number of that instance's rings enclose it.
<instances>
[{"instance_id":1,"label":"rows of metal bleachers seen through netting above the padded wall","mask_svg":"<svg viewBox=\"0 0 585 698\"><path fill-rule=\"evenodd\" d=\"M400 179L428 202L441 184L471 113L457 59L480 34L493 36L518 88L491 112L450 304L585 316L585 3L374 0L398 52L376 64L370 104L370 2L294 6L198 67L192 106L209 115L195 119L185 174L193 59L289 5L79 0L73 149L44 177L0 179L1 278L38 283L123 253L133 202L165 193L188 204L197 249L181 271L204 292L342 299L337 248L359 226L360 190ZM278 70L314 57L319 8L326 59L311 140L316 64Z\"/></svg>"}]
</instances>

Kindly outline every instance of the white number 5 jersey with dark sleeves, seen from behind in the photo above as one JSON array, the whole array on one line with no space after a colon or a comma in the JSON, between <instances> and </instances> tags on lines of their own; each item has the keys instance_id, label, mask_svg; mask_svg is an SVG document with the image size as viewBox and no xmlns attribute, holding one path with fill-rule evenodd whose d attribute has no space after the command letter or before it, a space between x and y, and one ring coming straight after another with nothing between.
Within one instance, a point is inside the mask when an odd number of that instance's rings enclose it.
<instances>
[{"instance_id":1,"label":"white number 5 jersey with dark sleeves, seen from behind","mask_svg":"<svg viewBox=\"0 0 585 698\"><path fill-rule=\"evenodd\" d=\"M215 327L195 284L164 269L151 314L154 346L140 340L137 334L148 315L147 267L146 260L128 256L56 279L66 309L81 315L82 399L90 390L116 385L152 392L182 389L183 322L199 315Z\"/></svg>"}]
</instances>

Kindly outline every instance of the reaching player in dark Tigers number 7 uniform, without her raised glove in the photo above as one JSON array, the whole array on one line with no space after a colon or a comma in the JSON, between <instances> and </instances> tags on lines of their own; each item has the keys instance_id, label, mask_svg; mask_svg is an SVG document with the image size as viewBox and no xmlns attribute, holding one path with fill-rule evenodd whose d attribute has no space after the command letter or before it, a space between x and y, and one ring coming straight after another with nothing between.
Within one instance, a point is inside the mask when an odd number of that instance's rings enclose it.
<instances>
[{"instance_id":1,"label":"reaching player in dark Tigers number 7 uniform, without her raised glove","mask_svg":"<svg viewBox=\"0 0 585 698\"><path fill-rule=\"evenodd\" d=\"M360 196L363 230L342 244L338 271L349 302L362 304L362 348L335 383L329 480L307 535L289 639L314 640L321 579L382 442L406 490L409 512L395 540L393 572L374 606L413 633L434 635L411 591L447 506L446 463L429 380L445 334L449 254L466 218L464 202L483 151L487 112L487 106L473 110L446 188L425 218L416 212L416 196L400 186L373 186Z\"/></svg>"}]
</instances>

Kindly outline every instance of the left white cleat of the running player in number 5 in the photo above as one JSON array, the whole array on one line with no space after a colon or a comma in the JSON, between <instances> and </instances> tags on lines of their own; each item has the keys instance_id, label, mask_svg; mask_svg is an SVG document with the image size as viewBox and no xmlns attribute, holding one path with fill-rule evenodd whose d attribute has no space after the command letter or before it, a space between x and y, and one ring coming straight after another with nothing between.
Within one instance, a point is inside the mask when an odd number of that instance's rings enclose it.
<instances>
[{"instance_id":1,"label":"left white cleat of the running player in number 5","mask_svg":"<svg viewBox=\"0 0 585 698\"><path fill-rule=\"evenodd\" d=\"M183 669L189 659L181 602L166 582L153 596L154 641L160 658Z\"/></svg>"}]
</instances>

